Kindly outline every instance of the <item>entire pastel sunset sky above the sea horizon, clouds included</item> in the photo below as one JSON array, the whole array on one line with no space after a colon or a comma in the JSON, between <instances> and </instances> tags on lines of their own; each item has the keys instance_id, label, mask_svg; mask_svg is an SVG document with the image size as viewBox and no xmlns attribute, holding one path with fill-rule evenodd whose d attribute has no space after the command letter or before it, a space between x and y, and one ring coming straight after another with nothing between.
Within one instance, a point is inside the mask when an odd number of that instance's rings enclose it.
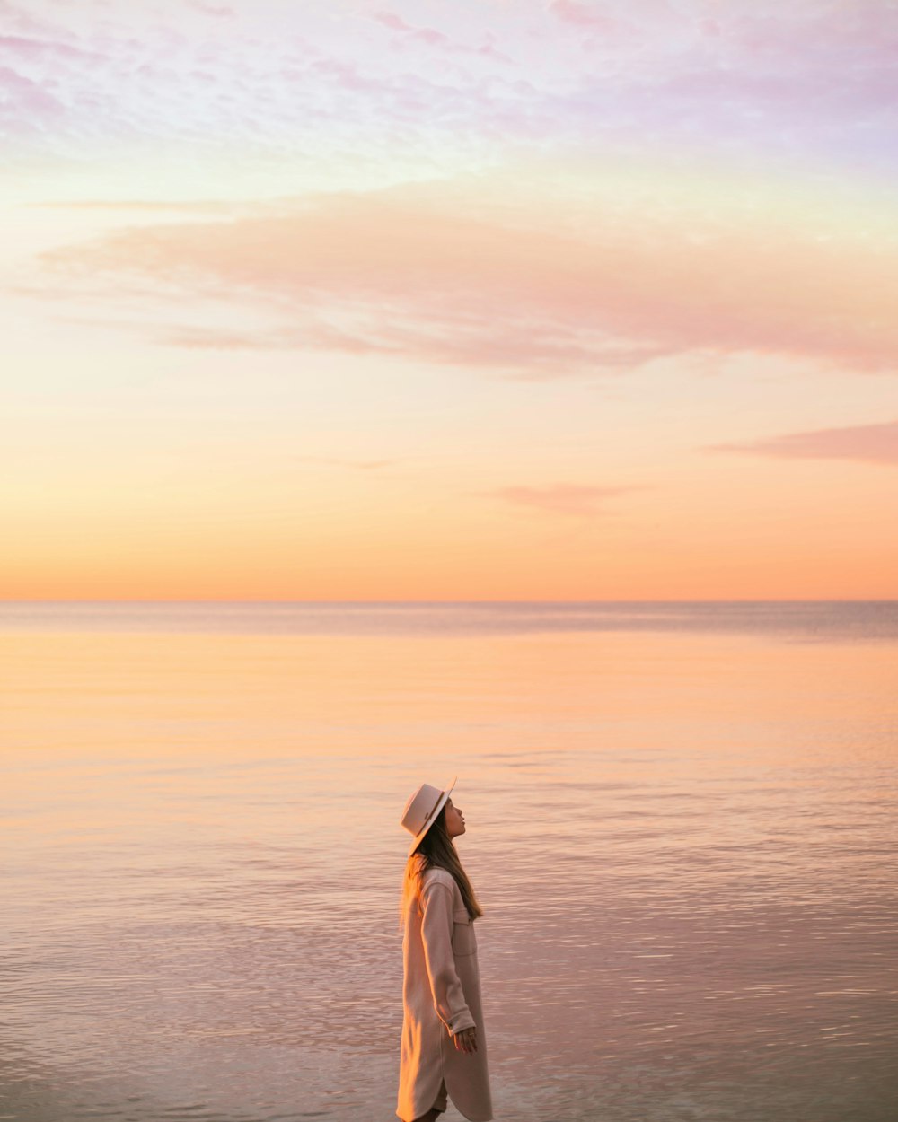
<instances>
[{"instance_id":1,"label":"entire pastel sunset sky above the sea horizon, clouds included","mask_svg":"<svg viewBox=\"0 0 898 1122\"><path fill-rule=\"evenodd\" d=\"M0 598L898 597L896 52L0 0Z\"/></svg>"}]
</instances>

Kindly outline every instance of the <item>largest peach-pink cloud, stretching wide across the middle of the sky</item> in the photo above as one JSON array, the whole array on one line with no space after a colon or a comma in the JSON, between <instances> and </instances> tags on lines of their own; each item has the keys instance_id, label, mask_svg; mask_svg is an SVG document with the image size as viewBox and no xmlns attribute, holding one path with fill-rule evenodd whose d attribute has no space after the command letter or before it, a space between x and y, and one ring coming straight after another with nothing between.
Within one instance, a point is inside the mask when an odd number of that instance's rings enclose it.
<instances>
[{"instance_id":1,"label":"largest peach-pink cloud, stretching wide across the middle of the sky","mask_svg":"<svg viewBox=\"0 0 898 1122\"><path fill-rule=\"evenodd\" d=\"M593 210L562 226L550 196L497 210L451 184L335 194L125 229L43 263L104 305L129 282L167 300L176 319L156 334L177 346L381 352L522 377L739 352L895 370L898 263L874 242L821 238L817 214L768 228ZM183 322L204 301L228 310L226 327Z\"/></svg>"}]
</instances>

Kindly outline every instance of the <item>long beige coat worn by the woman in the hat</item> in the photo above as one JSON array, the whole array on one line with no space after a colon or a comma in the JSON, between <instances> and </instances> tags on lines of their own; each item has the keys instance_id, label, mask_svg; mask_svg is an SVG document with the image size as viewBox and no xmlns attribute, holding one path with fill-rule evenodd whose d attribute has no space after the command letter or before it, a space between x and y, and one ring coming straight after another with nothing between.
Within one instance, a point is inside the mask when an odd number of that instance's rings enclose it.
<instances>
[{"instance_id":1,"label":"long beige coat worn by the woman in the hat","mask_svg":"<svg viewBox=\"0 0 898 1122\"><path fill-rule=\"evenodd\" d=\"M489 1122L493 1102L486 1066L477 940L456 879L429 868L421 908L412 901L402 942L405 977L396 1114L420 1118L442 1096L471 1122ZM458 1051L452 1033L477 1027L477 1051ZM445 1087L443 1087L445 1084Z\"/></svg>"}]
</instances>

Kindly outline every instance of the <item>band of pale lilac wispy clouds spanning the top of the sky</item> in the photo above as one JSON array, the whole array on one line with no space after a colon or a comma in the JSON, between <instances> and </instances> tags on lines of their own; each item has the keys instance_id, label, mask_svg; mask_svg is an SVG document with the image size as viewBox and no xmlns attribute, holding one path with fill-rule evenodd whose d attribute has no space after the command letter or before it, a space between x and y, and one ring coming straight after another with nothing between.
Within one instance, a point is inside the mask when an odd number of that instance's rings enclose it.
<instances>
[{"instance_id":1,"label":"band of pale lilac wispy clouds spanning the top of the sky","mask_svg":"<svg viewBox=\"0 0 898 1122\"><path fill-rule=\"evenodd\" d=\"M439 26L409 0L331 0L286 28L280 4L251 0L84 8L0 2L7 123L29 150L139 139L195 158L231 140L374 158L395 144L469 162L538 140L896 160L898 10L881 0L520 0L442 6Z\"/></svg>"}]
</instances>

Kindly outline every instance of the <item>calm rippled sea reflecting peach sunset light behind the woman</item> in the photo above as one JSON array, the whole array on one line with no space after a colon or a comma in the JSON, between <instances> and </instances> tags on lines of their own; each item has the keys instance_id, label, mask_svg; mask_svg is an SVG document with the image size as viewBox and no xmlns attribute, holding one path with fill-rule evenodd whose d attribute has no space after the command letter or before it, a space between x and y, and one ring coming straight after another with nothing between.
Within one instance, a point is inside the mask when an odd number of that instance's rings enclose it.
<instances>
[{"instance_id":1,"label":"calm rippled sea reflecting peach sunset light behind the woman","mask_svg":"<svg viewBox=\"0 0 898 1122\"><path fill-rule=\"evenodd\" d=\"M497 1120L895 1118L895 603L7 604L0 695L0 1119L394 1118L456 774Z\"/></svg>"}]
</instances>

